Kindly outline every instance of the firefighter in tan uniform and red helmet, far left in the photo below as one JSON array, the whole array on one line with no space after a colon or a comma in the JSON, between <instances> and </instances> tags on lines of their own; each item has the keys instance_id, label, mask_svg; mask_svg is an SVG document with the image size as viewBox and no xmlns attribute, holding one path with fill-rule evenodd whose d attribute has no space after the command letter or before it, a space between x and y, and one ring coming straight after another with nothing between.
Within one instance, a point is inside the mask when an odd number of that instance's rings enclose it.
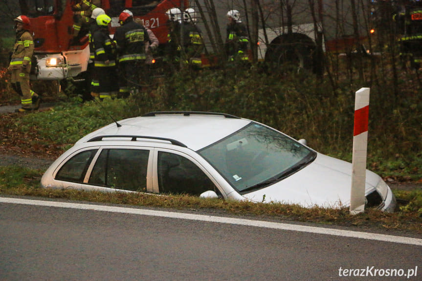
<instances>
[{"instance_id":1,"label":"firefighter in tan uniform and red helmet, far left","mask_svg":"<svg viewBox=\"0 0 422 281\"><path fill-rule=\"evenodd\" d=\"M36 110L40 107L40 97L31 90L29 73L34 53L34 41L31 34L31 23L28 17L19 16L15 20L16 41L8 69L11 72L12 88L21 96L22 107L16 112Z\"/></svg>"}]
</instances>

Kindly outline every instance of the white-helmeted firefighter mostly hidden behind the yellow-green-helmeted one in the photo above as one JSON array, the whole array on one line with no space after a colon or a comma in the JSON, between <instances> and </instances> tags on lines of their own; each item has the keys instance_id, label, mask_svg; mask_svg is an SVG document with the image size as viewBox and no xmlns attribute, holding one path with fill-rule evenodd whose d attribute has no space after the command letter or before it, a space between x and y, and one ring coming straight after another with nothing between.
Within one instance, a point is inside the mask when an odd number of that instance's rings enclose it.
<instances>
[{"instance_id":1,"label":"white-helmeted firefighter mostly hidden behind the yellow-green-helmeted one","mask_svg":"<svg viewBox=\"0 0 422 281\"><path fill-rule=\"evenodd\" d=\"M91 14L91 20L89 23L89 64L87 71L89 73L89 79L90 79L90 92L91 97L98 96L99 89L98 86L100 83L98 82L98 77L96 75L96 72L94 71L94 60L95 60L95 52L94 52L94 38L93 34L95 31L97 31L100 27L97 24L97 17L99 15L105 15L106 12L102 8L95 8L92 11ZM85 99L85 98L84 98ZM87 98L89 100L89 98Z\"/></svg>"}]
</instances>

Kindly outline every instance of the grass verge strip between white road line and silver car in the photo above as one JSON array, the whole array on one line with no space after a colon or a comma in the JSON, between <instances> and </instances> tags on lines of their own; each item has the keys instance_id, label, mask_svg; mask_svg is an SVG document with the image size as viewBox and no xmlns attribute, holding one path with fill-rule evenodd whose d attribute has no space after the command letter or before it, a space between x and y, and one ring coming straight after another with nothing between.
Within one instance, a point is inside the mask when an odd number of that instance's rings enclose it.
<instances>
[{"instance_id":1,"label":"grass verge strip between white road line and silver car","mask_svg":"<svg viewBox=\"0 0 422 281\"><path fill-rule=\"evenodd\" d=\"M422 233L422 191L393 191L400 204L395 213L367 209L351 216L347 208L303 208L279 203L251 203L202 199L189 195L155 196L141 193L102 193L79 190L52 190L39 187L42 171L16 166L0 167L0 194L61 198L98 203L189 210L213 210L230 215L260 216L288 221L313 222L326 225L355 226Z\"/></svg>"}]
</instances>

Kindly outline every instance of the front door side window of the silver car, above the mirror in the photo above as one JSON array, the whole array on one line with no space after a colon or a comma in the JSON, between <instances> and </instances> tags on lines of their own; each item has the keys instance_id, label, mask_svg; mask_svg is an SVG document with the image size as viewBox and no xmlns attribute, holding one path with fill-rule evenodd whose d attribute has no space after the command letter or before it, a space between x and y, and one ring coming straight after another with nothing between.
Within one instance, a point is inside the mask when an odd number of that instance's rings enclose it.
<instances>
[{"instance_id":1,"label":"front door side window of the silver car, above the mirror","mask_svg":"<svg viewBox=\"0 0 422 281\"><path fill-rule=\"evenodd\" d=\"M158 186L161 193L200 195L217 188L189 159L178 154L158 152Z\"/></svg>"}]
</instances>

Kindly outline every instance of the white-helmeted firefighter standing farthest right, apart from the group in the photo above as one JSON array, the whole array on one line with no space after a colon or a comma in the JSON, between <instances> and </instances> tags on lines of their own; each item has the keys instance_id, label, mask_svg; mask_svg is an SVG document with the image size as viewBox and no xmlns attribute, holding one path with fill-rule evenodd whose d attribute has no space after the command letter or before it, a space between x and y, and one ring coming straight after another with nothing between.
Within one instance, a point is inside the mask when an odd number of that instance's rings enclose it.
<instances>
[{"instance_id":1,"label":"white-helmeted firefighter standing farthest right, apart from the group","mask_svg":"<svg viewBox=\"0 0 422 281\"><path fill-rule=\"evenodd\" d=\"M230 61L235 58L248 60L248 45L246 25L240 20L238 10L227 12L226 53Z\"/></svg>"}]
</instances>

